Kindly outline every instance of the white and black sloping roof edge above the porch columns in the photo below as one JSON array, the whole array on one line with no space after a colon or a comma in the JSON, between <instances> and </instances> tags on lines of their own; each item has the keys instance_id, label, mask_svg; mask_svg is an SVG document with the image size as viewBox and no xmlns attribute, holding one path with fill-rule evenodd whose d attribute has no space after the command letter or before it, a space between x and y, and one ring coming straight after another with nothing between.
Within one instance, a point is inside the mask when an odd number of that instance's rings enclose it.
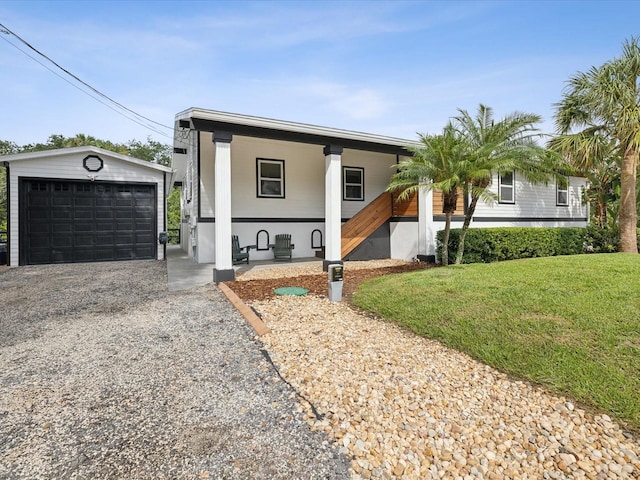
<instances>
[{"instance_id":1,"label":"white and black sloping roof edge above the porch columns","mask_svg":"<svg viewBox=\"0 0 640 480\"><path fill-rule=\"evenodd\" d=\"M418 145L418 142L404 138L195 107L176 114L177 128L179 128L180 120L188 120L189 128L198 131L227 130L237 135L290 140L317 145L335 143L346 148L385 151L404 155L409 154L407 146Z\"/></svg>"}]
</instances>

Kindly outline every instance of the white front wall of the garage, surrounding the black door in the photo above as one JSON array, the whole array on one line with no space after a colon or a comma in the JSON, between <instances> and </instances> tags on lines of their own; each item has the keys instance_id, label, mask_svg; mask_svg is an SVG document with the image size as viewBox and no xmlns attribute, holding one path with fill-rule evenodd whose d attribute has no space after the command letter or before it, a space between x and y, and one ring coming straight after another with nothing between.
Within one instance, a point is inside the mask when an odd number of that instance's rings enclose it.
<instances>
[{"instance_id":1,"label":"white front wall of the garage, surrounding the black door","mask_svg":"<svg viewBox=\"0 0 640 480\"><path fill-rule=\"evenodd\" d=\"M25 159L12 161L9 167L9 236L8 247L11 265L18 265L20 239L19 239L19 179L43 178L60 180L87 181L88 175L95 175L96 181L101 182L127 182L127 183L155 183L157 197L157 234L165 228L164 211L164 173L162 171L145 168L141 165L110 158L100 154L104 162L102 170L92 174L84 169L83 159L87 155L95 155L93 152L81 152L68 156L42 157L37 159ZM164 258L164 248L158 245L158 260Z\"/></svg>"}]
</instances>

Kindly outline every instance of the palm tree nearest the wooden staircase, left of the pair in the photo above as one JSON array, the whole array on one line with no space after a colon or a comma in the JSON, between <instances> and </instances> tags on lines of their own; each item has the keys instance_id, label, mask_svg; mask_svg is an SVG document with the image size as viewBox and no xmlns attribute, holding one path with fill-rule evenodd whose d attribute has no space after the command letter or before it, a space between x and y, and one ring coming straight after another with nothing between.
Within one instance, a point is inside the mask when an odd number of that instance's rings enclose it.
<instances>
[{"instance_id":1,"label":"palm tree nearest the wooden staircase, left of the pair","mask_svg":"<svg viewBox=\"0 0 640 480\"><path fill-rule=\"evenodd\" d=\"M449 264L449 232L451 216L456 210L458 191L466 183L466 148L451 123L439 135L418 134L420 145L407 147L412 158L394 165L397 172L391 177L387 191L400 191L404 200L421 187L441 190L445 214L442 264Z\"/></svg>"}]
</instances>

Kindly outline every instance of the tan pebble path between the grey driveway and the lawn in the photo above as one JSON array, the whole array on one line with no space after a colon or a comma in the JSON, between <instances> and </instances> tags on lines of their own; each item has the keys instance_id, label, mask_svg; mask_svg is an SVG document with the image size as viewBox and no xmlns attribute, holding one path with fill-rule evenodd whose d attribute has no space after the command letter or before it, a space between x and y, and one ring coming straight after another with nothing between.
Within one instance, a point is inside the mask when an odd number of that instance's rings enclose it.
<instances>
[{"instance_id":1,"label":"tan pebble path between the grey driveway and the lawn","mask_svg":"<svg viewBox=\"0 0 640 480\"><path fill-rule=\"evenodd\" d=\"M640 443L607 415L345 303L251 304L274 362L324 418L300 409L353 456L354 479L640 478Z\"/></svg>"}]
</instances>

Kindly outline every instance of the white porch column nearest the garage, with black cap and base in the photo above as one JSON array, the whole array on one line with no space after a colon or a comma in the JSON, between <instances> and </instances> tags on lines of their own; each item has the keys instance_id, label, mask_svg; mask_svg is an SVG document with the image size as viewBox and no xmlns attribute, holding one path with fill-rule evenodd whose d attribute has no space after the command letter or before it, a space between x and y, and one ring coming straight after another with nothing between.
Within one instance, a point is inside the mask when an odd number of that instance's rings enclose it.
<instances>
[{"instance_id":1,"label":"white porch column nearest the garage, with black cap and base","mask_svg":"<svg viewBox=\"0 0 640 480\"><path fill-rule=\"evenodd\" d=\"M231 255L231 139L230 132L213 132L214 160L214 246L216 263L215 283L235 280Z\"/></svg>"}]
</instances>

